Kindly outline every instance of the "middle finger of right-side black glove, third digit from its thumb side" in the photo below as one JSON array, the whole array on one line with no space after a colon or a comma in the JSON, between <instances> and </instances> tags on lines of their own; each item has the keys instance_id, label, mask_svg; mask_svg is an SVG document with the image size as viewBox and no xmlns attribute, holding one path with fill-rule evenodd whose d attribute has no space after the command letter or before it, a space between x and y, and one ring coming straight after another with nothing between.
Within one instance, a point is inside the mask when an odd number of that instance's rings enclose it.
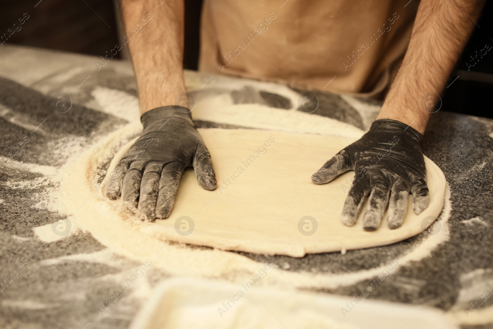
<instances>
[{"instance_id":1,"label":"middle finger of right-side black glove, third digit from its thumb side","mask_svg":"<svg viewBox=\"0 0 493 329\"><path fill-rule=\"evenodd\" d=\"M363 229L375 231L379 228L387 209L390 185L383 179L378 179L371 184L372 190L368 198L368 206L363 216Z\"/></svg>"}]
</instances>

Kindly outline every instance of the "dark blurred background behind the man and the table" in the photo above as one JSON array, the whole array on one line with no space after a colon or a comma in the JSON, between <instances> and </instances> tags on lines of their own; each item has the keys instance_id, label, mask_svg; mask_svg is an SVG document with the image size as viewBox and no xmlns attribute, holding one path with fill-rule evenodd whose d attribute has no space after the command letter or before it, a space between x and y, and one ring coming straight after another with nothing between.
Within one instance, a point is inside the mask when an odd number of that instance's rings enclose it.
<instances>
[{"instance_id":1,"label":"dark blurred background behind the man and the table","mask_svg":"<svg viewBox=\"0 0 493 329\"><path fill-rule=\"evenodd\" d=\"M9 37L8 43L101 56L119 42L112 0L38 1L0 0L0 33L11 28L24 13L30 15L21 31ZM185 0L183 65L190 70L197 70L202 2ZM442 95L441 110L493 118L493 49L480 58L474 67L470 67L470 71L467 71L466 64L473 63L470 56L476 55L476 51L479 53L485 44L493 46L492 14L493 0L488 0L449 78L448 87ZM119 52L116 57L120 56Z\"/></svg>"}]
</instances>

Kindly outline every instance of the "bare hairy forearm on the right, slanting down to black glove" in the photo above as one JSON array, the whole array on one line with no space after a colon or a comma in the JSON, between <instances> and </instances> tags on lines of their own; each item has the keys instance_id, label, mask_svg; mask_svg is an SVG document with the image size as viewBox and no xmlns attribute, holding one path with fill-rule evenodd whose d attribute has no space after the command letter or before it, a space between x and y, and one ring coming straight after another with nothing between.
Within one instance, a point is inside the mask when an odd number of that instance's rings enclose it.
<instances>
[{"instance_id":1,"label":"bare hairy forearm on the right, slanting down to black glove","mask_svg":"<svg viewBox=\"0 0 493 329\"><path fill-rule=\"evenodd\" d=\"M377 119L394 119L424 133L426 95L440 94L471 34L483 0L422 0L409 46Z\"/></svg>"}]
</instances>

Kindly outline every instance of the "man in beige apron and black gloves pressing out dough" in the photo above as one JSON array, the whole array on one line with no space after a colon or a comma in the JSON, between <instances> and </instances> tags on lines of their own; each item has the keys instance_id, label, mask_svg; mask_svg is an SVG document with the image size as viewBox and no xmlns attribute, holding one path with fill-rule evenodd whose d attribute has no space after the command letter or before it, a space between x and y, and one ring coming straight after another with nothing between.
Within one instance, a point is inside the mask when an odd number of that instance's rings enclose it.
<instances>
[{"instance_id":1,"label":"man in beige apron and black gloves pressing out dough","mask_svg":"<svg viewBox=\"0 0 493 329\"><path fill-rule=\"evenodd\" d=\"M354 170L341 219L354 224L369 198L368 231L380 226L387 205L388 226L400 227L409 193L417 214L428 206L420 142L430 111L423 99L444 88L483 6L481 0L406 2L204 2L201 70L354 95L389 86L369 132L312 176L323 184ZM144 130L117 166L107 196L121 194L147 219L165 219L187 166L202 187L216 187L210 153L189 111L175 105L186 92L183 0L122 0L122 11L127 28L152 14L129 42Z\"/></svg>"}]
</instances>

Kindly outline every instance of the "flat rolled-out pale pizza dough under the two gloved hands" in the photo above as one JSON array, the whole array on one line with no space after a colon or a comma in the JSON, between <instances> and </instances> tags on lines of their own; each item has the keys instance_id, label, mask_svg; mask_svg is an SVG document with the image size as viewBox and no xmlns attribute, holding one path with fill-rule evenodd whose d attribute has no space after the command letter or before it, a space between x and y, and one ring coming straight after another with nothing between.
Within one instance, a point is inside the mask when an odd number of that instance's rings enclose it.
<instances>
[{"instance_id":1,"label":"flat rolled-out pale pizza dough under the two gloved hands","mask_svg":"<svg viewBox=\"0 0 493 329\"><path fill-rule=\"evenodd\" d=\"M199 129L208 146L218 187L199 186L192 169L180 181L168 219L136 225L149 237L222 250L302 257L398 242L419 234L444 203L442 171L425 157L430 204L416 215L411 207L402 227L384 218L374 232L362 220L340 221L353 172L317 185L310 176L355 139L254 129ZM133 141L113 158L104 182ZM103 187L104 189L104 187ZM120 200L110 201L116 206ZM423 225L424 222L424 225Z\"/></svg>"}]
</instances>

